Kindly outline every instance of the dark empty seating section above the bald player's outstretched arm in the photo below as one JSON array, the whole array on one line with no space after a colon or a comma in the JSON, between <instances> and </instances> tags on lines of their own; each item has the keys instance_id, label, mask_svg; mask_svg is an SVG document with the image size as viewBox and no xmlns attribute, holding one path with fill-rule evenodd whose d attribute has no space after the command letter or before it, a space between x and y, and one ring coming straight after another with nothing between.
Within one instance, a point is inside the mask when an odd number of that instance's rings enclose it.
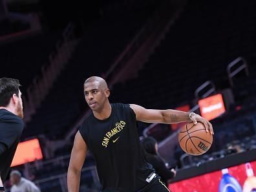
<instances>
[{"instance_id":1,"label":"dark empty seating section above the bald player's outstretched arm","mask_svg":"<svg viewBox=\"0 0 256 192\"><path fill-rule=\"evenodd\" d=\"M204 81L228 87L228 63L255 51L256 3L251 4L189 1L138 78L116 85L112 100L166 109L192 100Z\"/></svg>"}]
</instances>

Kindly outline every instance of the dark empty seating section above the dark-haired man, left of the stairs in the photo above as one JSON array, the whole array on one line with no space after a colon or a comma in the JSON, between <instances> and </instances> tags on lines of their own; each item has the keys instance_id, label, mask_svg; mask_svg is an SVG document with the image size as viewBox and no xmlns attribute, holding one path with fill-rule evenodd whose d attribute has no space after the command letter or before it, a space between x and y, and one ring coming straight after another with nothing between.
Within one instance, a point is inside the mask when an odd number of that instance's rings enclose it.
<instances>
[{"instance_id":1,"label":"dark empty seating section above the dark-haired man, left of the stairs","mask_svg":"<svg viewBox=\"0 0 256 192\"><path fill-rule=\"evenodd\" d=\"M41 67L47 63L61 33L42 33L9 44L0 45L1 77L19 79L25 94Z\"/></svg>"}]
</instances>

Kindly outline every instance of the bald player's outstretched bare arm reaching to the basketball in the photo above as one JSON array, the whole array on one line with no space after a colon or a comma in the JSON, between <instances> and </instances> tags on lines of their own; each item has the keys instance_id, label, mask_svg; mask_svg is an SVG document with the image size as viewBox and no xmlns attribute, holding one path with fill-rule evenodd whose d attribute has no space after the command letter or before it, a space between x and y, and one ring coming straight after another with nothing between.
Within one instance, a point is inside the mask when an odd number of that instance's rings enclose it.
<instances>
[{"instance_id":1,"label":"bald player's outstretched bare arm reaching to the basketball","mask_svg":"<svg viewBox=\"0 0 256 192\"><path fill-rule=\"evenodd\" d=\"M210 131L213 134L213 126L202 116L189 112L176 111L173 109L157 110L157 109L145 109L140 105L130 105L136 114L136 120L147 123L180 123L180 122L202 122L206 127L206 131ZM190 114L190 116L189 116Z\"/></svg>"}]
</instances>

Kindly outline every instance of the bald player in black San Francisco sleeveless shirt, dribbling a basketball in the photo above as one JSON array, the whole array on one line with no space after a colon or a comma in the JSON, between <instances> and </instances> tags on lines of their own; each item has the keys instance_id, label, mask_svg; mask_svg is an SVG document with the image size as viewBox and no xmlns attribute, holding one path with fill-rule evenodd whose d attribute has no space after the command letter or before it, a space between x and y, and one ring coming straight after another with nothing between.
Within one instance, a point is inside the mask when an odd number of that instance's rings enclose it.
<instances>
[{"instance_id":1,"label":"bald player in black San Francisco sleeveless shirt, dribbling a basketball","mask_svg":"<svg viewBox=\"0 0 256 192\"><path fill-rule=\"evenodd\" d=\"M211 123L195 113L109 103L110 91L105 80L100 77L88 78L83 88L85 100L92 113L80 126L74 139L67 173L69 192L79 191L81 167L88 150L96 160L102 191L169 191L152 165L144 159L136 121L202 122L206 131L213 134Z\"/></svg>"}]
</instances>

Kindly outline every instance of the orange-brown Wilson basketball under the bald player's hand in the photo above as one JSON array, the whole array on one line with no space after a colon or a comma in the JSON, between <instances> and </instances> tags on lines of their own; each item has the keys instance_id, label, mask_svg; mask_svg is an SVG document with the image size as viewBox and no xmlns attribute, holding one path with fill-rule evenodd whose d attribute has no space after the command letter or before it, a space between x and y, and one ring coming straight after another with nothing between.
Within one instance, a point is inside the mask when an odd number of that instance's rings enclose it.
<instances>
[{"instance_id":1,"label":"orange-brown Wilson basketball under the bald player's hand","mask_svg":"<svg viewBox=\"0 0 256 192\"><path fill-rule=\"evenodd\" d=\"M178 142L182 150L189 155L206 153L213 143L213 135L206 132L204 124L197 122L187 123L178 133Z\"/></svg>"}]
</instances>

